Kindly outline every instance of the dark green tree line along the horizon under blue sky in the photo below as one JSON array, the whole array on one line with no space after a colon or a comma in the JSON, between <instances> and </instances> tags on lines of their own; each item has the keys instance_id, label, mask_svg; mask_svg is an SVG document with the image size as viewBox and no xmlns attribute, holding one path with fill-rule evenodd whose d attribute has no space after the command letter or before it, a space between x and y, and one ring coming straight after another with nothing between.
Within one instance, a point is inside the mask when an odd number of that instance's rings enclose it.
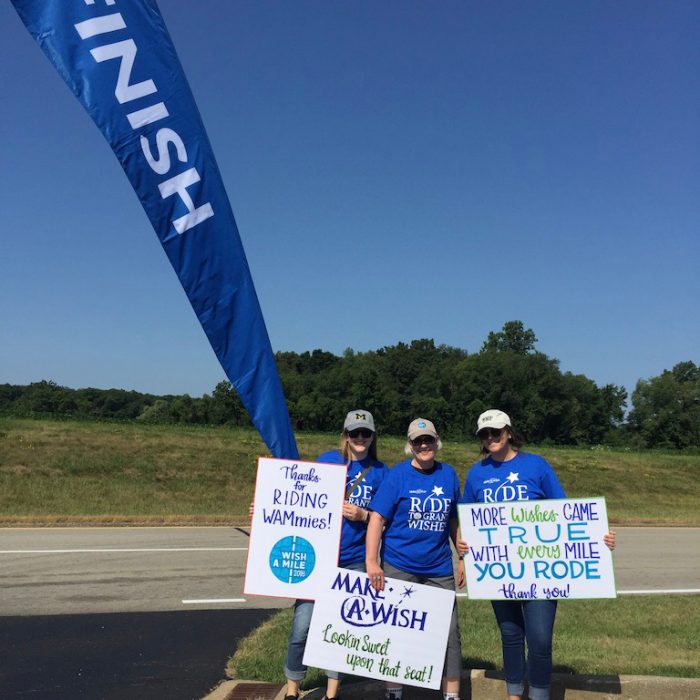
<instances>
[{"instance_id":1,"label":"dark green tree line along the horizon under blue sky","mask_svg":"<svg viewBox=\"0 0 700 700\"><path fill-rule=\"evenodd\" d=\"M700 368L682 362L640 380L625 420L627 392L562 372L535 349L534 331L509 321L477 353L433 340L351 349L276 354L295 430L339 432L347 411L366 408L380 433L401 435L424 416L451 439L472 439L478 415L498 407L535 444L691 448L700 446ZM69 415L145 423L231 424L250 419L229 382L201 398L122 389L69 389L51 381L0 385L6 414Z\"/></svg>"}]
</instances>

